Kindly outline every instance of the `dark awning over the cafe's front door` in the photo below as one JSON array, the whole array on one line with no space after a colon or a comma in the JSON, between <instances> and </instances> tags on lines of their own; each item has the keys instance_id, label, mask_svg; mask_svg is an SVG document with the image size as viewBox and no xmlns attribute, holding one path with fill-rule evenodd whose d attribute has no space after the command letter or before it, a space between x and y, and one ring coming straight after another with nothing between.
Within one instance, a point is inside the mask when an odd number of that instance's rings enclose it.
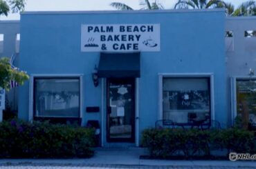
<instances>
[{"instance_id":1,"label":"dark awning over the cafe's front door","mask_svg":"<svg viewBox=\"0 0 256 169\"><path fill-rule=\"evenodd\" d=\"M100 53L99 77L140 77L140 52Z\"/></svg>"}]
</instances>

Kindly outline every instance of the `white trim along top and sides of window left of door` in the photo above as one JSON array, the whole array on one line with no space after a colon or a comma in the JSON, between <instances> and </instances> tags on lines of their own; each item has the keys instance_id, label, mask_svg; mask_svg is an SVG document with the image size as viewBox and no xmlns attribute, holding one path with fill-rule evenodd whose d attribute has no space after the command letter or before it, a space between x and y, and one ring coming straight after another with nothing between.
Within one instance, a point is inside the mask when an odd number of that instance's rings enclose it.
<instances>
[{"instance_id":1,"label":"white trim along top and sides of window left of door","mask_svg":"<svg viewBox=\"0 0 256 169\"><path fill-rule=\"evenodd\" d=\"M28 121L33 122L34 112L33 112L33 103L34 103L34 79L35 78L70 78L75 77L80 80L80 118L82 118L82 108L83 106L83 74L30 74L30 83L29 83L29 99L28 99Z\"/></svg>"}]
</instances>

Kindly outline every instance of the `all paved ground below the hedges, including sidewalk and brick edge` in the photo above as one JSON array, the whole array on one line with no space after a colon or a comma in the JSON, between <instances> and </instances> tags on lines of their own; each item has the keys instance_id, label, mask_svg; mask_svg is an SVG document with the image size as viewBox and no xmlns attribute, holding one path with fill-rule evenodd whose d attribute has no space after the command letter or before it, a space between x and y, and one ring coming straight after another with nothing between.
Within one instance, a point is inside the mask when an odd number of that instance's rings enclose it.
<instances>
[{"instance_id":1,"label":"all paved ground below the hedges, including sidewalk and brick edge","mask_svg":"<svg viewBox=\"0 0 256 169\"><path fill-rule=\"evenodd\" d=\"M141 148L98 148L90 159L1 159L0 169L104 169L104 168L253 168L256 161L170 161L140 159Z\"/></svg>"}]
</instances>

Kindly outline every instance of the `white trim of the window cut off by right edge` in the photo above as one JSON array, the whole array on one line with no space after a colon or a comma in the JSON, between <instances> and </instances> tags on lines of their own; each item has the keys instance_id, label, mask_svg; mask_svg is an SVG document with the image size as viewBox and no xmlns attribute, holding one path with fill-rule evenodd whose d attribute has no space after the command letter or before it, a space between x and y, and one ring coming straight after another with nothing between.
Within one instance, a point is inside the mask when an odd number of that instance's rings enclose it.
<instances>
[{"instance_id":1,"label":"white trim of the window cut off by right edge","mask_svg":"<svg viewBox=\"0 0 256 169\"><path fill-rule=\"evenodd\" d=\"M231 81L231 122L232 126L235 124L235 117L237 117L237 80L255 79L256 76L235 76L230 77Z\"/></svg>"}]
</instances>

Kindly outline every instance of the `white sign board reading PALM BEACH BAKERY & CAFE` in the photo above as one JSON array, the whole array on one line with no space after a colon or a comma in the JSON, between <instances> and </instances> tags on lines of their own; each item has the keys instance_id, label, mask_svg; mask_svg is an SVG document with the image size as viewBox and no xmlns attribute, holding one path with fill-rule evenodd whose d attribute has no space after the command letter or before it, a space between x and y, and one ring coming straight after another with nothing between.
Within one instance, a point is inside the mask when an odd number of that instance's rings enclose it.
<instances>
[{"instance_id":1,"label":"white sign board reading PALM BEACH BAKERY & CAFE","mask_svg":"<svg viewBox=\"0 0 256 169\"><path fill-rule=\"evenodd\" d=\"M82 25L81 51L160 51L160 24Z\"/></svg>"}]
</instances>

